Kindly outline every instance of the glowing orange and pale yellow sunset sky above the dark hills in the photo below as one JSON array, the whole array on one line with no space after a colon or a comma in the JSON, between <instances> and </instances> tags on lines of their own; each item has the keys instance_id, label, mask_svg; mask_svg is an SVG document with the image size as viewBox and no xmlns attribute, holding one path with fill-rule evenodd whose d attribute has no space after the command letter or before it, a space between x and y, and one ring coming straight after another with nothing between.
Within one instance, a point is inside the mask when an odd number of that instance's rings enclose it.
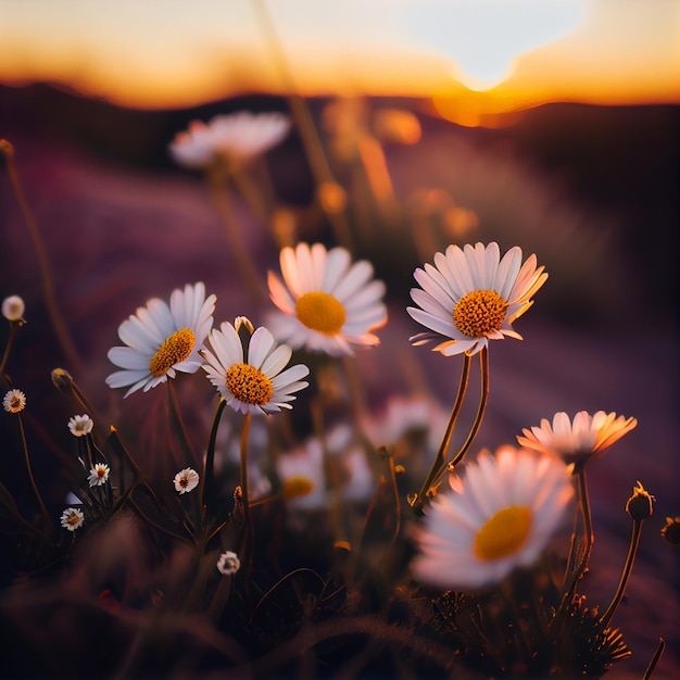
<instances>
[{"instance_id":1,"label":"glowing orange and pale yellow sunset sky above the dark hills","mask_svg":"<svg viewBox=\"0 0 680 680\"><path fill-rule=\"evenodd\" d=\"M291 84L432 97L470 122L555 100L677 103L680 0L0 0L0 83L36 80L136 108Z\"/></svg>"}]
</instances>

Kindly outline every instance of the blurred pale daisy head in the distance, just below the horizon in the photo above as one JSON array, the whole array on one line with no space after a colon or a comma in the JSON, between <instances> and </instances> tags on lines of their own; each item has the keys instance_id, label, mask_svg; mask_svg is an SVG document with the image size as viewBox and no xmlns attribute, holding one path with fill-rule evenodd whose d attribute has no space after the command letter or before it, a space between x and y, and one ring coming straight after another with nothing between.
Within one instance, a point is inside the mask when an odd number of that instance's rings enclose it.
<instances>
[{"instance_id":1,"label":"blurred pale daisy head in the distance, just below the horizon","mask_svg":"<svg viewBox=\"0 0 680 680\"><path fill-rule=\"evenodd\" d=\"M290 119L278 112L247 111L217 115L210 123L193 121L169 144L174 160L186 167L204 168L217 160L243 162L278 144L290 129Z\"/></svg>"}]
</instances>

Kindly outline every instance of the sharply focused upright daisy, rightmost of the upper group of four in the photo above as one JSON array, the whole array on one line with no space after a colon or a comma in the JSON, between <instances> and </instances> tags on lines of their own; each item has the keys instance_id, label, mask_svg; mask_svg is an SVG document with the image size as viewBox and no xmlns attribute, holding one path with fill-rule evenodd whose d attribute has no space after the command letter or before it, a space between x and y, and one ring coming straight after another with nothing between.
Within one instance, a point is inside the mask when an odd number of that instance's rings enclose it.
<instances>
[{"instance_id":1,"label":"sharply focused upright daisy, rightmost of the upper group of four","mask_svg":"<svg viewBox=\"0 0 680 680\"><path fill-rule=\"evenodd\" d=\"M410 340L439 341L433 351L445 356L476 354L489 340L506 336L521 340L512 325L533 304L531 295L547 278L543 268L537 267L536 255L522 265L518 247L501 260L498 243L467 244L463 250L449 245L435 255L435 266L428 263L414 273L421 289L412 288L411 298L418 306L406 311L433 332Z\"/></svg>"}]
</instances>

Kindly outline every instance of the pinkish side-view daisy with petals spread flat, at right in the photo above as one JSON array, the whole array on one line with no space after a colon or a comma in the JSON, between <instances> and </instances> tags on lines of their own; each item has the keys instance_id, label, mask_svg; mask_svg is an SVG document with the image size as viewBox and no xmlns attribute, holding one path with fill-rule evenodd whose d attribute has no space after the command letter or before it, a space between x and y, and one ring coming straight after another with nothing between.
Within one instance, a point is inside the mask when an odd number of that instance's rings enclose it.
<instances>
[{"instance_id":1,"label":"pinkish side-view daisy with petals spread flat, at right","mask_svg":"<svg viewBox=\"0 0 680 680\"><path fill-rule=\"evenodd\" d=\"M543 418L540 427L524 429L517 437L521 446L558 455L565 463L582 466L601 456L613 443L638 425L635 418L597 411L590 415L579 411L574 416L559 412L552 424Z\"/></svg>"}]
</instances>

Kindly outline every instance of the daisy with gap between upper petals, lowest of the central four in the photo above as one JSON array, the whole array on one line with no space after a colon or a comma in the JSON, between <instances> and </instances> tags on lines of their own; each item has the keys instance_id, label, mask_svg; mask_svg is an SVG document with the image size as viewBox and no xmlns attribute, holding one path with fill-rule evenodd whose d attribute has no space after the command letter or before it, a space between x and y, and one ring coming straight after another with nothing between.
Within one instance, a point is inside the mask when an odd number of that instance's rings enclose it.
<instances>
[{"instance_id":1,"label":"daisy with gap between upper petals, lowest of the central four","mask_svg":"<svg viewBox=\"0 0 680 680\"><path fill-rule=\"evenodd\" d=\"M292 408L289 402L295 399L293 392L308 385L301 381L310 373L304 364L284 370L292 350L287 344L277 345L264 326L250 336L247 358L238 331L227 322L210 333L209 342L214 354L202 352L207 362L203 369L235 411L278 413Z\"/></svg>"}]
</instances>

